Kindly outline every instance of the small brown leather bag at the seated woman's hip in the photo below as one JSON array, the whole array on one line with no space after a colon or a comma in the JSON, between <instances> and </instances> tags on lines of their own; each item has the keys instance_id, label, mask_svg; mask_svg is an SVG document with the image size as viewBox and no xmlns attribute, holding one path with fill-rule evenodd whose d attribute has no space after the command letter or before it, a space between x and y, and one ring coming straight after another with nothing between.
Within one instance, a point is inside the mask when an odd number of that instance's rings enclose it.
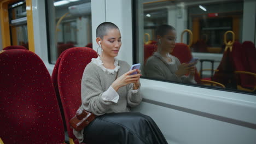
<instances>
[{"instance_id":1,"label":"small brown leather bag at the seated woman's hip","mask_svg":"<svg viewBox=\"0 0 256 144\"><path fill-rule=\"evenodd\" d=\"M70 119L69 123L72 128L77 131L82 130L86 127L91 121L95 119L94 113L79 109L76 115Z\"/></svg>"}]
</instances>

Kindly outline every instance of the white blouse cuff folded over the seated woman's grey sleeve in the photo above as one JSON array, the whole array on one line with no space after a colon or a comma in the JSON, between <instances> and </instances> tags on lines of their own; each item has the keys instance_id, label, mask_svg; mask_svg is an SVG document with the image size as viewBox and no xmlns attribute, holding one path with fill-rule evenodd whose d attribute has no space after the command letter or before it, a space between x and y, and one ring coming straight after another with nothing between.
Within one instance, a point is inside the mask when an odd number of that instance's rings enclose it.
<instances>
[{"instance_id":1,"label":"white blouse cuff folded over the seated woman's grey sleeve","mask_svg":"<svg viewBox=\"0 0 256 144\"><path fill-rule=\"evenodd\" d=\"M101 98L104 101L112 101L114 103L117 103L119 99L119 94L112 86L110 86L106 92L102 93Z\"/></svg>"}]
</instances>

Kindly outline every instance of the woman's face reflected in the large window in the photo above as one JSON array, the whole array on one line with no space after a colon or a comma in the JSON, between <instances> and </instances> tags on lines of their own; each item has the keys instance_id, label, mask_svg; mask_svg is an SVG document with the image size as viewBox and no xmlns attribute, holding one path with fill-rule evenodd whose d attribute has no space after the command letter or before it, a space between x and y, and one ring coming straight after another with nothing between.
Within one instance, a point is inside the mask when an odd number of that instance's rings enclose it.
<instances>
[{"instance_id":1,"label":"woman's face reflected in the large window","mask_svg":"<svg viewBox=\"0 0 256 144\"><path fill-rule=\"evenodd\" d=\"M166 35L161 37L161 51L171 53L175 47L176 31L169 30Z\"/></svg>"}]
</instances>

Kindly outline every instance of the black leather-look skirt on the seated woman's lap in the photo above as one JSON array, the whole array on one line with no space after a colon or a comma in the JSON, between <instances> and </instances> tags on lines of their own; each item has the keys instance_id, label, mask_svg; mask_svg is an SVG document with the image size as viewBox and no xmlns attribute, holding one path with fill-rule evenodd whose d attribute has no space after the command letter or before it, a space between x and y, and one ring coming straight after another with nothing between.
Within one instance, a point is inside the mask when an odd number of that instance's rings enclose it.
<instances>
[{"instance_id":1,"label":"black leather-look skirt on the seated woman's lap","mask_svg":"<svg viewBox=\"0 0 256 144\"><path fill-rule=\"evenodd\" d=\"M84 129L86 144L166 144L160 129L149 116L137 112L98 116Z\"/></svg>"}]
</instances>

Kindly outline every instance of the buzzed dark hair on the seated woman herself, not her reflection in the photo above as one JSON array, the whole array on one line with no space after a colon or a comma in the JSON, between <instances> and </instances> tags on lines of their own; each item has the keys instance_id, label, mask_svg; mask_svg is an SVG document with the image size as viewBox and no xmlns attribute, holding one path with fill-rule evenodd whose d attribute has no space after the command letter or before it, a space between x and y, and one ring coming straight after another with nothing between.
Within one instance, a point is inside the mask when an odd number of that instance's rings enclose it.
<instances>
[{"instance_id":1,"label":"buzzed dark hair on the seated woman herself, not her reflection","mask_svg":"<svg viewBox=\"0 0 256 144\"><path fill-rule=\"evenodd\" d=\"M118 26L112 22L102 22L96 29L96 37L103 39L104 35L107 35L107 31L113 28L119 29Z\"/></svg>"}]
</instances>

